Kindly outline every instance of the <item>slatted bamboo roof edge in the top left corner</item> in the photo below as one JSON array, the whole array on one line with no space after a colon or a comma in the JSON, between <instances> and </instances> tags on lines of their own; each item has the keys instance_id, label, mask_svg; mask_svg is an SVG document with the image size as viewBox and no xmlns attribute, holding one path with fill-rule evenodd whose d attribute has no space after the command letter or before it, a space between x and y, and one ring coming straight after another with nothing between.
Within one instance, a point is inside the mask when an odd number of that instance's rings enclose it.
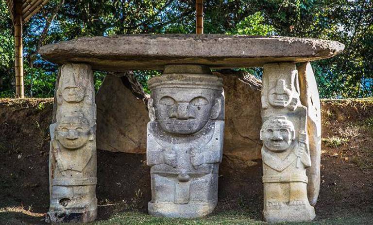
<instances>
[{"instance_id":1,"label":"slatted bamboo roof edge in the top left corner","mask_svg":"<svg viewBox=\"0 0 373 225\"><path fill-rule=\"evenodd\" d=\"M6 0L8 4L9 13L14 21L15 2L17 0ZM49 0L21 0L22 2L22 23L26 23L31 16L34 16L40 9L48 3Z\"/></svg>"}]
</instances>

